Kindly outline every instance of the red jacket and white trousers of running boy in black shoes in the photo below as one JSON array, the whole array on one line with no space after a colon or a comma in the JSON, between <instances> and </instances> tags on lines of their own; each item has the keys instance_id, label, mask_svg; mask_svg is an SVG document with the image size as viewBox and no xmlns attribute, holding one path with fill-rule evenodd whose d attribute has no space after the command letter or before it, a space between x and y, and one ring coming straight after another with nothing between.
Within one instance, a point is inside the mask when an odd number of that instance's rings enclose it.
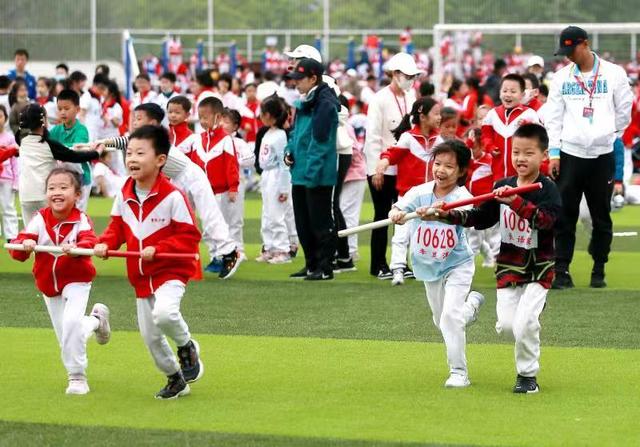
<instances>
[{"instance_id":1,"label":"red jacket and white trousers of running boy in black shoes","mask_svg":"<svg viewBox=\"0 0 640 447\"><path fill-rule=\"evenodd\" d=\"M136 251L155 247L156 253L197 253L200 232L184 194L159 174L150 191L127 179L99 241L114 250L126 243ZM166 337L179 347L191 339L180 302L196 268L190 260L127 258L127 275L138 298L140 333L156 366L167 376L177 373L180 365Z\"/></svg>"}]
</instances>

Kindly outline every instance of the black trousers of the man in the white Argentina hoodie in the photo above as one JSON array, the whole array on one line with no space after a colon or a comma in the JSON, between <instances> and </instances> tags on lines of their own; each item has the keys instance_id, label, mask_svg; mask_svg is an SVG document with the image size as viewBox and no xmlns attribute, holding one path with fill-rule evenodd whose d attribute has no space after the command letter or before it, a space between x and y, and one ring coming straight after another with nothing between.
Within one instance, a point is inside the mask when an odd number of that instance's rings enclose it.
<instances>
[{"instance_id":1,"label":"black trousers of the man in the white Argentina hoodie","mask_svg":"<svg viewBox=\"0 0 640 447\"><path fill-rule=\"evenodd\" d=\"M556 225L557 271L568 270L573 259L583 193L593 221L589 254L595 263L604 264L609 260L613 239L610 213L614 172L613 152L598 158L579 158L561 152L558 189L562 197L562 211Z\"/></svg>"}]
</instances>

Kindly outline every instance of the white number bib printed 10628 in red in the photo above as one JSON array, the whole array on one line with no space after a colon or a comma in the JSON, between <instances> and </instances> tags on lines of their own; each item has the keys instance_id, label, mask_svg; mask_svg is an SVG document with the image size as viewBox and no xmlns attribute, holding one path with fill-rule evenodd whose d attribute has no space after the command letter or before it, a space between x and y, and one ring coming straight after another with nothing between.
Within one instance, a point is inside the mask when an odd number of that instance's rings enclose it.
<instances>
[{"instance_id":1,"label":"white number bib printed 10628 in red","mask_svg":"<svg viewBox=\"0 0 640 447\"><path fill-rule=\"evenodd\" d=\"M425 261L444 262L458 245L455 225L441 222L420 224L413 233L413 254Z\"/></svg>"}]
</instances>

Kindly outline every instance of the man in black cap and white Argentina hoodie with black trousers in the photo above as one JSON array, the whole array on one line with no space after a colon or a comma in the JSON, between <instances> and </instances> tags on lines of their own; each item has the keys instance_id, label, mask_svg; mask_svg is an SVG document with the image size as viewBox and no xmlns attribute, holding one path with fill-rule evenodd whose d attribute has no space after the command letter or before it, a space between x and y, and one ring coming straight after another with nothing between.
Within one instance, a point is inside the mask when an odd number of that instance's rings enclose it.
<instances>
[{"instance_id":1,"label":"man in black cap and white Argentina hoodie with black trousers","mask_svg":"<svg viewBox=\"0 0 640 447\"><path fill-rule=\"evenodd\" d=\"M555 73L545 110L549 170L563 202L556 232L553 288L574 287L569 265L583 194L593 218L590 285L606 287L604 266L613 237L613 142L629 124L633 94L624 69L593 53L582 28L569 26L562 31L559 54L573 63Z\"/></svg>"}]
</instances>

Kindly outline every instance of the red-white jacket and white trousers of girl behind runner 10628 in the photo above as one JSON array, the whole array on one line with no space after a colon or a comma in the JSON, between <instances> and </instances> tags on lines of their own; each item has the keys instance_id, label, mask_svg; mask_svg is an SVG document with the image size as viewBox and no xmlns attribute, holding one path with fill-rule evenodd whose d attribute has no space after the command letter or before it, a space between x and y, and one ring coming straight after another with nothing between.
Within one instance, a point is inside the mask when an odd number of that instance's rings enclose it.
<instances>
[{"instance_id":1,"label":"red-white jacket and white trousers of girl behind runner 10628","mask_svg":"<svg viewBox=\"0 0 640 447\"><path fill-rule=\"evenodd\" d=\"M389 160L390 165L398 167L396 189L398 200L414 186L431 180L431 153L433 147L442 141L437 132L422 135L420 126L400 135L398 142L380 154L380 159ZM407 251L411 232L408 225L395 225L391 239L391 270L407 267Z\"/></svg>"}]
</instances>

